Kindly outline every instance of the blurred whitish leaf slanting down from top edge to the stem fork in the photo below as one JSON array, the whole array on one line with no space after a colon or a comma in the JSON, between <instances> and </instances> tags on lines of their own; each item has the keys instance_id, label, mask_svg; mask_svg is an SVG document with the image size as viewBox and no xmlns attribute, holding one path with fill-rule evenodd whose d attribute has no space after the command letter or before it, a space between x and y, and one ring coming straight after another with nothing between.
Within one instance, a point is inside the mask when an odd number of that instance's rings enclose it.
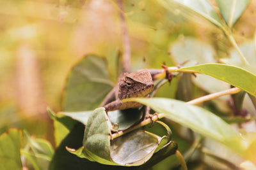
<instances>
[{"instance_id":1,"label":"blurred whitish leaf slanting down from top edge to the stem fork","mask_svg":"<svg viewBox=\"0 0 256 170\"><path fill-rule=\"evenodd\" d=\"M220 18L207 0L159 0L159 2L171 11L176 10L173 9L175 3L180 4L180 8L186 8L186 10L193 11L212 22L212 24L222 27Z\"/></svg>"}]
</instances>

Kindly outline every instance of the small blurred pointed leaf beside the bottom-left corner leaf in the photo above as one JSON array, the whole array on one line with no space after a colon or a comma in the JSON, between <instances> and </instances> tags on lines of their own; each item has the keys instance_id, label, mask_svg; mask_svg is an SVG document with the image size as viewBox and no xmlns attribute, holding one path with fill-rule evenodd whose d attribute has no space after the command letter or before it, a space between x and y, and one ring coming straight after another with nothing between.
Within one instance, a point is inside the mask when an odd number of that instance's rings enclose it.
<instances>
[{"instance_id":1,"label":"small blurred pointed leaf beside the bottom-left corner leaf","mask_svg":"<svg viewBox=\"0 0 256 170\"><path fill-rule=\"evenodd\" d=\"M31 147L35 157L51 160L54 150L51 143L45 139L31 138L27 131L24 131L29 146Z\"/></svg>"}]
</instances>

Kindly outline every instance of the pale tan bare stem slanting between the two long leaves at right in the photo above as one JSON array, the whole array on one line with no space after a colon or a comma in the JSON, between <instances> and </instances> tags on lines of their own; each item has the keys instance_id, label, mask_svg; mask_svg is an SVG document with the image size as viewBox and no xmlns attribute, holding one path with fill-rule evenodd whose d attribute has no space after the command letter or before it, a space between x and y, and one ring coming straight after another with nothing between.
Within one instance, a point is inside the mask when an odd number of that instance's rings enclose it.
<instances>
[{"instance_id":1,"label":"pale tan bare stem slanting between the two long leaves at right","mask_svg":"<svg viewBox=\"0 0 256 170\"><path fill-rule=\"evenodd\" d=\"M241 91L241 89L239 89L237 87L234 87L232 89L223 90L221 92L216 92L216 93L213 93L213 94L209 94L207 96L199 97L199 98L194 99L192 101L188 101L187 103L188 104L198 104L198 103L202 103L204 101L209 101L211 99L215 99L217 97L225 96L227 94L236 94L236 93L238 93L240 91Z\"/></svg>"}]
</instances>

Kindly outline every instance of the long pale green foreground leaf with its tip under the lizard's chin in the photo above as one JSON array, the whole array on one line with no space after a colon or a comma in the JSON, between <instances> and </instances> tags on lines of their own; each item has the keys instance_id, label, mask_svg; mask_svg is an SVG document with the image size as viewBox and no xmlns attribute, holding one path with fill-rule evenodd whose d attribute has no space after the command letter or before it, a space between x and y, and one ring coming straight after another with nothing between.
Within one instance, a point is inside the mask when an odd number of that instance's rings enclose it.
<instances>
[{"instance_id":1,"label":"long pale green foreground leaf with its tip under the lizard's chin","mask_svg":"<svg viewBox=\"0 0 256 170\"><path fill-rule=\"evenodd\" d=\"M124 101L137 101L148 105L157 113L166 114L166 117L174 122L223 143L242 157L250 160L254 159L248 156L252 156L253 152L255 153L255 150L248 150L254 140L246 141L242 139L230 125L210 111L173 99L131 98ZM245 152L246 150L247 152Z\"/></svg>"}]
</instances>

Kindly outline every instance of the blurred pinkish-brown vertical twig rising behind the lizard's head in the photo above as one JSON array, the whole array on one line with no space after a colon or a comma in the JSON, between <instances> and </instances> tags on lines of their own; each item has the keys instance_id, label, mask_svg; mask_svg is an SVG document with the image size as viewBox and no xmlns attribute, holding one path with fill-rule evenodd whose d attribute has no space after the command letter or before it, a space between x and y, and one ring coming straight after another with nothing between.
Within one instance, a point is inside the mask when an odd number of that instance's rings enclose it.
<instances>
[{"instance_id":1,"label":"blurred pinkish-brown vertical twig rising behind the lizard's head","mask_svg":"<svg viewBox=\"0 0 256 170\"><path fill-rule=\"evenodd\" d=\"M127 29L127 25L125 22L125 16L124 16L124 4L123 0L118 0L117 1L118 7L120 8L119 15L120 15L120 24L121 24L121 29L123 33L123 50L124 50L124 55L123 55L123 73L131 72L131 43L130 43L130 38L129 38L129 32Z\"/></svg>"}]
</instances>

